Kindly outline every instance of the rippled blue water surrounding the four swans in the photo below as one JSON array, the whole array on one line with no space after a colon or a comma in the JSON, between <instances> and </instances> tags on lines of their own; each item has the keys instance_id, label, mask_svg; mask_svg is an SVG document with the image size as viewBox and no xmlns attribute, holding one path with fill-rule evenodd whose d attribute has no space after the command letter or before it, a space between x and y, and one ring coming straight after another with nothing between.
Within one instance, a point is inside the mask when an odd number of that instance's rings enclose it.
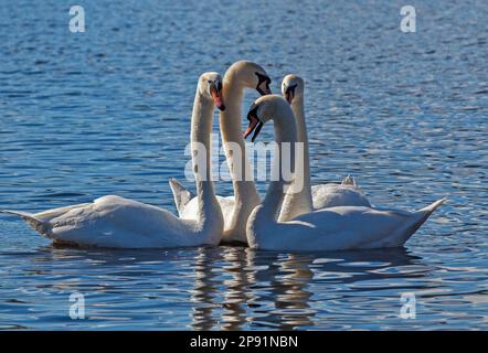
<instances>
[{"instance_id":1,"label":"rippled blue water surrounding the four swans","mask_svg":"<svg viewBox=\"0 0 488 353\"><path fill-rule=\"evenodd\" d=\"M115 193L174 212L197 78L242 58L275 92L306 79L315 183L449 201L405 248L333 254L55 248L1 215L0 329L488 329L487 1L415 1L409 34L397 0L83 1L85 33L72 4L0 1L0 207Z\"/></svg>"}]
</instances>

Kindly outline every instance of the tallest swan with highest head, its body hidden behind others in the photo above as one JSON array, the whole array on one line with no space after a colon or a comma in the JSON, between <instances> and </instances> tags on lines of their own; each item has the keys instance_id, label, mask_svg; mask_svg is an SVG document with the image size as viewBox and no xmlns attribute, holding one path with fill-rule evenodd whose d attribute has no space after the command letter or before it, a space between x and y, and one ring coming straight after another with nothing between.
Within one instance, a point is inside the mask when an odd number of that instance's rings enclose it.
<instances>
[{"instance_id":1,"label":"tallest swan with highest head, its body hidden behind others","mask_svg":"<svg viewBox=\"0 0 488 353\"><path fill-rule=\"evenodd\" d=\"M270 94L270 78L259 65L248 61L240 61L229 67L223 83L223 101L226 108L220 114L220 129L235 197L216 196L224 215L222 240L224 243L238 242L245 244L247 243L245 235L247 217L259 203L259 194L252 179L243 180L244 178L241 178L241 171L251 170L241 132L242 100L244 88L256 89L262 95ZM242 151L241 164L238 164L238 158L235 156L236 151L232 150L232 145L229 142L236 143L235 147ZM194 220L198 214L198 203L194 195L174 178L170 179L169 183L180 217ZM237 203L235 203L235 199Z\"/></svg>"}]
</instances>

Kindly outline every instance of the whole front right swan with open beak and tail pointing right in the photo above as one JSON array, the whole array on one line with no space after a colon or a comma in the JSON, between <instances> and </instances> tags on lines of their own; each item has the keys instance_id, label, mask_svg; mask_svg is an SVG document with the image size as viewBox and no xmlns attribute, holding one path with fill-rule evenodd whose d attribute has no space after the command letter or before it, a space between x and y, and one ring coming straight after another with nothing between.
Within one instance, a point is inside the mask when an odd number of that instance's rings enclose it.
<instances>
[{"instance_id":1,"label":"whole front right swan with open beak and tail pointing right","mask_svg":"<svg viewBox=\"0 0 488 353\"><path fill-rule=\"evenodd\" d=\"M295 143L297 129L288 103L278 95L258 98L247 115L251 127L274 120L276 142ZM246 135L252 132L247 131ZM254 133L256 138L258 131ZM291 153L290 165L294 165ZM276 159L275 159L276 161ZM283 163L282 153L277 158ZM284 199L285 182L279 168L278 181L272 181L266 196L247 221L251 247L268 250L344 250L399 247L444 201L417 212L385 211L364 206L338 206L303 214L289 222L277 222Z\"/></svg>"}]
</instances>

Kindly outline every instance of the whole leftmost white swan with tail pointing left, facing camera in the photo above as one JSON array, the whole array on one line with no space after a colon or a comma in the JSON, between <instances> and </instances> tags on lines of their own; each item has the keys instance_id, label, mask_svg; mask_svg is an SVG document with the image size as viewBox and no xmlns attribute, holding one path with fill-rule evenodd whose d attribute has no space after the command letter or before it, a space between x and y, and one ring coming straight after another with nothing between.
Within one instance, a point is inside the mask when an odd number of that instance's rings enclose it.
<instances>
[{"instance_id":1,"label":"whole leftmost white swan with tail pointing left, facing camera","mask_svg":"<svg viewBox=\"0 0 488 353\"><path fill-rule=\"evenodd\" d=\"M199 165L199 171L195 171L198 220L181 220L167 210L114 195L38 214L1 212L22 217L39 233L61 244L110 248L218 245L223 232L223 216L211 181L210 135L214 103L223 108L221 86L218 73L201 75L193 104L191 142L194 170L195 151L200 152L201 146L206 150L205 156L199 156L199 161L205 158L206 168Z\"/></svg>"}]
</instances>

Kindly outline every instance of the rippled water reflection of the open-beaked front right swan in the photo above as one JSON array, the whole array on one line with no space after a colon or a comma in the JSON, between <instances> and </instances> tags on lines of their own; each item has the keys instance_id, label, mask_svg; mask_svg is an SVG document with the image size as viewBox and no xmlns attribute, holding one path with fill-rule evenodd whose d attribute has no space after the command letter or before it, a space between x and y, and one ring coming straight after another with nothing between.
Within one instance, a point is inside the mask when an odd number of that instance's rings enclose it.
<instances>
[{"instance_id":1,"label":"rippled water reflection of the open-beaked front right swan","mask_svg":"<svg viewBox=\"0 0 488 353\"><path fill-rule=\"evenodd\" d=\"M251 252L253 254L253 252ZM266 257L251 255L250 260L256 267L257 280L268 282L265 290L257 291L257 301L270 302L273 308L256 319L256 324L279 330L294 330L314 327L317 306L316 295L310 289L312 282L320 284L319 293L333 295L338 284L344 286L356 280L371 280L389 277L370 274L371 264L390 266L409 265L414 257L404 249L386 252L342 252L330 254L267 254ZM361 261L365 267L347 267L344 264ZM266 266L266 263L273 264ZM323 276L326 275L326 276ZM333 287L332 287L333 285ZM337 293L336 293L337 296ZM261 297L261 298L259 298ZM327 300L321 300L327 309Z\"/></svg>"}]
</instances>

